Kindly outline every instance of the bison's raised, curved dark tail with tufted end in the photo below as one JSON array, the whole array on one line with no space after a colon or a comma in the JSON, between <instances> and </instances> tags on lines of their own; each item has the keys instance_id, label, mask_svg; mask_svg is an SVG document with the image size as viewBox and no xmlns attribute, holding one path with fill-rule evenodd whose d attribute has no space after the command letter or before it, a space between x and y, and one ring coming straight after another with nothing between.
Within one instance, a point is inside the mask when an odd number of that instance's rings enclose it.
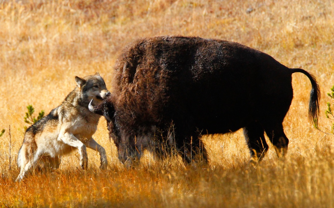
<instances>
[{"instance_id":1,"label":"bison's raised, curved dark tail with tufted end","mask_svg":"<svg viewBox=\"0 0 334 208\"><path fill-rule=\"evenodd\" d=\"M305 71L304 69L292 69L292 73L301 72L305 74L311 81L312 90L310 94L310 104L309 104L309 119L312 121L314 127L318 128L318 115L319 115L319 102L320 102L320 90L318 82L315 76Z\"/></svg>"}]
</instances>

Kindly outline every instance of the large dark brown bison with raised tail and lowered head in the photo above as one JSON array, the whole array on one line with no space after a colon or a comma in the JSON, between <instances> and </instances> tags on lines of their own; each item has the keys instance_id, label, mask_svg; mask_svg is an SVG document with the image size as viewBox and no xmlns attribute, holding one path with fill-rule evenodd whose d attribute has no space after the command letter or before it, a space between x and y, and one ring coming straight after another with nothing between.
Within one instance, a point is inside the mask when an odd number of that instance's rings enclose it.
<instances>
[{"instance_id":1,"label":"large dark brown bison with raised tail and lowered head","mask_svg":"<svg viewBox=\"0 0 334 208\"><path fill-rule=\"evenodd\" d=\"M251 161L288 149L283 119L293 98L292 77L311 81L309 118L317 125L320 91L313 75L235 42L161 36L129 44L115 63L112 95L92 112L104 115L119 159L132 164L143 150L178 153L185 164L205 164L200 136L243 128Z\"/></svg>"}]
</instances>

